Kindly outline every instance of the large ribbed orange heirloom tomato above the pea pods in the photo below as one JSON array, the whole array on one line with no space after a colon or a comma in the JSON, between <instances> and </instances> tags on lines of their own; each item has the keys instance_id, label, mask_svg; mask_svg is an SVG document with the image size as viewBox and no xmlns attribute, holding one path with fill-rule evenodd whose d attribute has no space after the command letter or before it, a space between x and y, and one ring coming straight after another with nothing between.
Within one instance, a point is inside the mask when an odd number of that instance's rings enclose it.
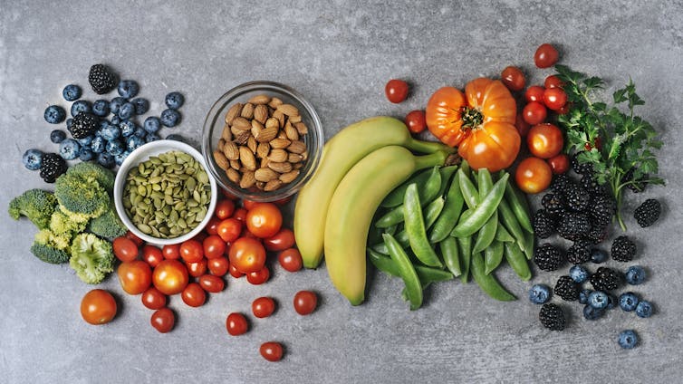
<instances>
[{"instance_id":1,"label":"large ribbed orange heirloom tomato above the pea pods","mask_svg":"<svg viewBox=\"0 0 683 384\"><path fill-rule=\"evenodd\" d=\"M516 103L503 82L486 78L467 83L465 92L443 87L427 103L427 128L456 147L472 168L509 167L519 152Z\"/></svg>"}]
</instances>

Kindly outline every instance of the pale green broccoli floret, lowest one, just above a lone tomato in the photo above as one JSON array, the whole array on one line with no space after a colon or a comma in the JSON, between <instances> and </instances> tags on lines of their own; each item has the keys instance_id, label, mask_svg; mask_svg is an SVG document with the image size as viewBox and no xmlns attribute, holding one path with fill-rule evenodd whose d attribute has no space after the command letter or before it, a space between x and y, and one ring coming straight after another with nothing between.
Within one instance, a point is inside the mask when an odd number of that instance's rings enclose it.
<instances>
[{"instance_id":1,"label":"pale green broccoli floret, lowest one, just above a lone tomato","mask_svg":"<svg viewBox=\"0 0 683 384\"><path fill-rule=\"evenodd\" d=\"M114 271L114 254L111 243L96 235L76 235L72 241L72 257L69 265L76 271L83 283L101 283L107 274Z\"/></svg>"}]
</instances>

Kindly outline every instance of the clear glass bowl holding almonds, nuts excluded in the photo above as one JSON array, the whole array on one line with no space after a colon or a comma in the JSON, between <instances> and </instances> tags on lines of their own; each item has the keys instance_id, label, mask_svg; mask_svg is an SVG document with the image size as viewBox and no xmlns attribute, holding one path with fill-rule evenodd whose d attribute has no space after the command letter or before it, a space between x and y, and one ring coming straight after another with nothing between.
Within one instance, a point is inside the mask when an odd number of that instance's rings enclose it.
<instances>
[{"instance_id":1,"label":"clear glass bowl holding almonds, nuts excluded","mask_svg":"<svg viewBox=\"0 0 683 384\"><path fill-rule=\"evenodd\" d=\"M252 97L266 94L277 97L285 104L292 104L299 110L303 123L308 127L308 133L303 135L302 140L306 145L308 158L304 160L303 167L299 169L299 175L288 184L273 191L263 191L256 188L244 189L227 178L226 171L216 164L213 152L217 147L218 140L226 126L226 112L236 102L245 103ZM204 121L202 132L202 154L207 163L209 173L216 178L216 182L226 192L243 199L266 202L290 197L296 193L312 176L322 157L322 124L318 114L310 102L292 88L277 82L245 82L237 85L226 94L221 96L208 111Z\"/></svg>"}]
</instances>

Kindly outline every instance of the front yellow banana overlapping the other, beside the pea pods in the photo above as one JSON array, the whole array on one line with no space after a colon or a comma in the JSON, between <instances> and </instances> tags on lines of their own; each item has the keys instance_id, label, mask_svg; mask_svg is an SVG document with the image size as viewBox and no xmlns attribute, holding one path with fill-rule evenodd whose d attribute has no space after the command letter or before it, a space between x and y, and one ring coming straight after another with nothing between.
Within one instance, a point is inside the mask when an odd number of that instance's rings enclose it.
<instances>
[{"instance_id":1,"label":"front yellow banana overlapping the other, beside the pea pods","mask_svg":"<svg viewBox=\"0 0 683 384\"><path fill-rule=\"evenodd\" d=\"M332 284L352 305L365 298L365 246L380 202L416 170L443 164L446 157L445 150L416 157L403 147L387 146L362 158L342 178L325 222L325 264Z\"/></svg>"}]
</instances>

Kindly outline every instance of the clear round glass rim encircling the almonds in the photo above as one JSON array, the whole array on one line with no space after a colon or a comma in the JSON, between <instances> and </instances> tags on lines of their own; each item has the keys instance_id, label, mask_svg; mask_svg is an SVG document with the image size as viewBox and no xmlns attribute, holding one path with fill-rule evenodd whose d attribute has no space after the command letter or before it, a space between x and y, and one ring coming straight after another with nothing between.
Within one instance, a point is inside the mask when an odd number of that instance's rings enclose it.
<instances>
[{"instance_id":1,"label":"clear round glass rim encircling the almonds","mask_svg":"<svg viewBox=\"0 0 683 384\"><path fill-rule=\"evenodd\" d=\"M296 101L299 103L301 106L303 106L303 110L305 110L305 113L307 113L310 117L310 120L313 123L313 127L311 127L312 130L315 130L315 137L314 139L314 148L317 150L315 153L310 153L308 160L306 161L306 165L302 169L306 169L306 172L302 172L302 175L298 180L296 180L295 183L290 184L288 187L285 188L280 188L276 189L271 192L265 192L265 191L257 191L257 192L250 192L248 190L236 187L232 185L232 183L226 183L226 180L224 180L224 177L221 176L221 172L219 172L215 168L215 161L213 160L213 149L211 148L211 135L210 132L213 130L214 125L216 124L216 121L218 119L221 119L221 111L226 108L228 104L231 102L234 102L236 98L239 98L240 96L244 95L245 93L248 92L253 92L253 91L271 91L275 93L282 93L285 96L287 96L290 99L293 99L293 101ZM318 168L318 165L320 164L321 158L322 158L322 148L324 146L324 131L322 130L322 120L320 120L320 116L318 115L318 112L315 110L313 107L313 104L311 102L307 101L301 93L298 91L293 90L292 87L285 85L280 82L271 82L271 81L252 81L252 82L243 82L241 84L236 85L229 91L226 91L223 95L221 95L214 103L211 105L211 108L207 112L207 117L204 120L204 127L202 130L202 154L204 155L204 158L207 160L207 167L209 170L209 173L212 174L212 176L216 179L216 183L218 184L219 187L222 187L226 192L240 198L240 199L247 199L255 202L272 202L276 200L280 200L286 197L291 197L295 193L303 187L303 185L313 177L313 173L315 170Z\"/></svg>"}]
</instances>

